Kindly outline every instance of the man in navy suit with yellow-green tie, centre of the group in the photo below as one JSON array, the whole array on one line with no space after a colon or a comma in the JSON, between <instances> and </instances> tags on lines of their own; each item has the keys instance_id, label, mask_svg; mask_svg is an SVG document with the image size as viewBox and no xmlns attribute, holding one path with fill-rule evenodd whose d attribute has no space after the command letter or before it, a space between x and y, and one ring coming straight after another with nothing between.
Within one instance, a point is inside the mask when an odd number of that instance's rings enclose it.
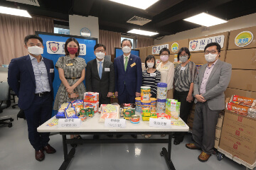
<instances>
[{"instance_id":1,"label":"man in navy suit with yellow-green tie, centre of the group","mask_svg":"<svg viewBox=\"0 0 256 170\"><path fill-rule=\"evenodd\" d=\"M131 55L131 40L122 40L121 46L124 55L114 59L114 95L118 97L119 104L135 103L142 86L142 61Z\"/></svg>"}]
</instances>

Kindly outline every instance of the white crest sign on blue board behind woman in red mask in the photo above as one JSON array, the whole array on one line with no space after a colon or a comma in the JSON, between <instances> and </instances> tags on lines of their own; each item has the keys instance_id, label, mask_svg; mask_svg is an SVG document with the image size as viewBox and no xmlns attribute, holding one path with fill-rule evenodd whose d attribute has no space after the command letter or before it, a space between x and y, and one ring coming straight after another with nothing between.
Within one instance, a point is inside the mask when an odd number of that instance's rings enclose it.
<instances>
[{"instance_id":1,"label":"white crest sign on blue board behind woman in red mask","mask_svg":"<svg viewBox=\"0 0 256 170\"><path fill-rule=\"evenodd\" d=\"M80 54L79 55L86 55L86 45L80 45ZM57 41L47 41L46 42L47 52L49 54L58 54L58 55L65 55L65 42L57 42Z\"/></svg>"}]
</instances>

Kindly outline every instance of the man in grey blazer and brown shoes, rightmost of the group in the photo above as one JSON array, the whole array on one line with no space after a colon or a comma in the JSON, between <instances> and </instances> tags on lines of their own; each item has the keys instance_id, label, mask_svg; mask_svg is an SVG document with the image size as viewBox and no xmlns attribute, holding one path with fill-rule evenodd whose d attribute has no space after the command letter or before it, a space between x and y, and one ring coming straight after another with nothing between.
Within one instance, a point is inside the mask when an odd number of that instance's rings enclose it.
<instances>
[{"instance_id":1,"label":"man in grey blazer and brown shoes, rightmost of the group","mask_svg":"<svg viewBox=\"0 0 256 170\"><path fill-rule=\"evenodd\" d=\"M193 95L196 100L196 111L193 120L192 136L195 144L186 144L188 149L202 149L198 156L201 162L208 161L215 144L215 126L218 113L225 108L224 91L231 77L231 64L218 60L220 45L211 42L206 45L205 57L208 64L199 70L194 82Z\"/></svg>"}]
</instances>

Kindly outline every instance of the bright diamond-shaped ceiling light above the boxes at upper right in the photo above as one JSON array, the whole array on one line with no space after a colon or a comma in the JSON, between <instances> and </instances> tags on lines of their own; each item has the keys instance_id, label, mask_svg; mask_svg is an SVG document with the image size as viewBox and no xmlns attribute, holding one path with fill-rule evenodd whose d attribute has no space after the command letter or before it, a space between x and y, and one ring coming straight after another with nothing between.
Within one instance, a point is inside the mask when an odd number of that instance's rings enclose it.
<instances>
[{"instance_id":1,"label":"bright diamond-shaped ceiling light above the boxes at upper right","mask_svg":"<svg viewBox=\"0 0 256 170\"><path fill-rule=\"evenodd\" d=\"M184 19L185 21L191 22L191 23L197 23L201 26L215 26L220 23L227 23L228 21L225 21L223 19L217 18L215 16L211 16L208 13L199 13L196 16L191 16L189 18Z\"/></svg>"}]
</instances>

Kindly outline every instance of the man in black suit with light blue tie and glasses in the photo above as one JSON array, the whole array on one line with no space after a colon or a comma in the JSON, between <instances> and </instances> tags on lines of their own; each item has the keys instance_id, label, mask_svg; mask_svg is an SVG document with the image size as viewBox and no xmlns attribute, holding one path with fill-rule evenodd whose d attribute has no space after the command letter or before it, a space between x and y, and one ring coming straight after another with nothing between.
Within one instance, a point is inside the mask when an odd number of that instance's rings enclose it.
<instances>
[{"instance_id":1,"label":"man in black suit with light blue tie and glasses","mask_svg":"<svg viewBox=\"0 0 256 170\"><path fill-rule=\"evenodd\" d=\"M96 59L88 62L86 67L86 90L99 93L100 105L110 104L110 97L114 93L114 65L104 58L105 45L95 45L94 53Z\"/></svg>"}]
</instances>

